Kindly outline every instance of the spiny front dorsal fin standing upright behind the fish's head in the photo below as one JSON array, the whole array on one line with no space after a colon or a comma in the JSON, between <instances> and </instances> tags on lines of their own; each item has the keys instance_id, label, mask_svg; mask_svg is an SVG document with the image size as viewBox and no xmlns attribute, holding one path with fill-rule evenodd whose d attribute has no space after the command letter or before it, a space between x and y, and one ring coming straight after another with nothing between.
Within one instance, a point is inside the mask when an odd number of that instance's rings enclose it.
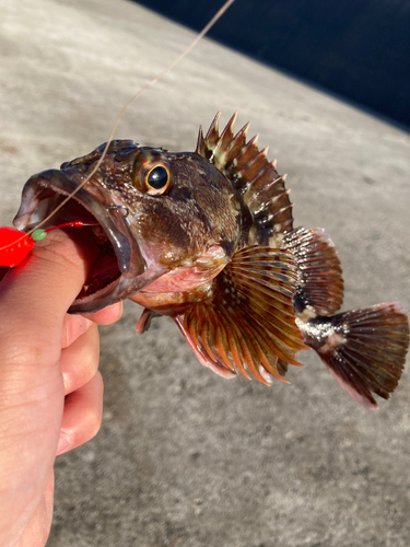
<instances>
[{"instance_id":1,"label":"spiny front dorsal fin standing upright behind the fish's head","mask_svg":"<svg viewBox=\"0 0 410 547\"><path fill-rule=\"evenodd\" d=\"M200 128L196 152L207 158L241 191L256 224L268 242L273 233L286 233L293 228L292 203L285 189L285 175L280 176L276 162L267 159L268 149L258 149L258 136L246 142L249 123L235 136L236 112L219 135L216 113L207 136Z\"/></svg>"}]
</instances>

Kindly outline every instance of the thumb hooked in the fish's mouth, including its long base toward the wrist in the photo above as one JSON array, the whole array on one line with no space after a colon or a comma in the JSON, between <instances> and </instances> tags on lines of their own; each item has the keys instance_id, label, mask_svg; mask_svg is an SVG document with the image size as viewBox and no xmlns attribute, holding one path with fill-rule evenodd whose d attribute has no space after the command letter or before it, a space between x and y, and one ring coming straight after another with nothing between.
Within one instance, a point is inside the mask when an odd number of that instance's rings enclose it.
<instances>
[{"instance_id":1,"label":"thumb hooked in the fish's mouth, including its long base toward the wrist","mask_svg":"<svg viewBox=\"0 0 410 547\"><path fill-rule=\"evenodd\" d=\"M1 545L24 529L54 464L65 400L62 323L86 263L81 245L54 232L0 283Z\"/></svg>"}]
</instances>

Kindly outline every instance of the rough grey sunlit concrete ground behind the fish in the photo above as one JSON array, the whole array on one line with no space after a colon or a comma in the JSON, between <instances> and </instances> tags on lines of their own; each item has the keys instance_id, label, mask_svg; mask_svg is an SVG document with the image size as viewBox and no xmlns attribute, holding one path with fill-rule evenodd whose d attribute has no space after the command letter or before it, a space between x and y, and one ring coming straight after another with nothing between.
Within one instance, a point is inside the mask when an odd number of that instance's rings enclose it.
<instances>
[{"instance_id":1,"label":"rough grey sunlit concrete ground behind the fish","mask_svg":"<svg viewBox=\"0 0 410 547\"><path fill-rule=\"evenodd\" d=\"M0 220L10 224L28 176L105 141L192 34L119 0L3 0L0 18ZM192 150L218 109L224 121L238 109L238 127L250 119L270 144L296 225L331 235L343 309L409 309L409 135L206 40L117 137ZM50 547L410 544L408 372L379 411L351 400L313 352L291 385L224 381L171 319L137 337L139 313L127 305L102 328L103 426L57 459Z\"/></svg>"}]
</instances>

